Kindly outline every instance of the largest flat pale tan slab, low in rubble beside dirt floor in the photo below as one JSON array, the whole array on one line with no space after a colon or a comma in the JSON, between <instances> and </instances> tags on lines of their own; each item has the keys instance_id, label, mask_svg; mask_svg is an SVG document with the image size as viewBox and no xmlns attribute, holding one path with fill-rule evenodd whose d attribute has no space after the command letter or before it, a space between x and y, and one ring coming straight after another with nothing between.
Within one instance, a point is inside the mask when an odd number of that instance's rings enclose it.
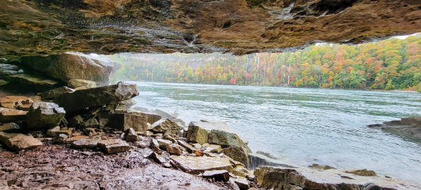
<instances>
[{"instance_id":1,"label":"largest flat pale tan slab, low in rubble beside dirt floor","mask_svg":"<svg viewBox=\"0 0 421 190\"><path fill-rule=\"evenodd\" d=\"M171 156L175 162L191 169L192 173L202 173L210 170L227 170L233 167L228 158L206 156Z\"/></svg>"}]
</instances>

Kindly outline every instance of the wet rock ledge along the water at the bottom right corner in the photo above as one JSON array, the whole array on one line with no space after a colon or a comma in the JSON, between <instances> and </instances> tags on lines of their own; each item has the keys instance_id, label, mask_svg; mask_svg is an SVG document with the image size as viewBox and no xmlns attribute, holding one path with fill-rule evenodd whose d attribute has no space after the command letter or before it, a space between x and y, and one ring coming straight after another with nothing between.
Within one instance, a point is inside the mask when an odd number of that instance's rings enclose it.
<instances>
[{"instance_id":1,"label":"wet rock ledge along the water at the bottom right corner","mask_svg":"<svg viewBox=\"0 0 421 190\"><path fill-rule=\"evenodd\" d=\"M356 176L345 170L314 170L262 166L254 171L257 183L269 189L362 189L367 182L382 189L419 189L420 184L378 176Z\"/></svg>"}]
</instances>

